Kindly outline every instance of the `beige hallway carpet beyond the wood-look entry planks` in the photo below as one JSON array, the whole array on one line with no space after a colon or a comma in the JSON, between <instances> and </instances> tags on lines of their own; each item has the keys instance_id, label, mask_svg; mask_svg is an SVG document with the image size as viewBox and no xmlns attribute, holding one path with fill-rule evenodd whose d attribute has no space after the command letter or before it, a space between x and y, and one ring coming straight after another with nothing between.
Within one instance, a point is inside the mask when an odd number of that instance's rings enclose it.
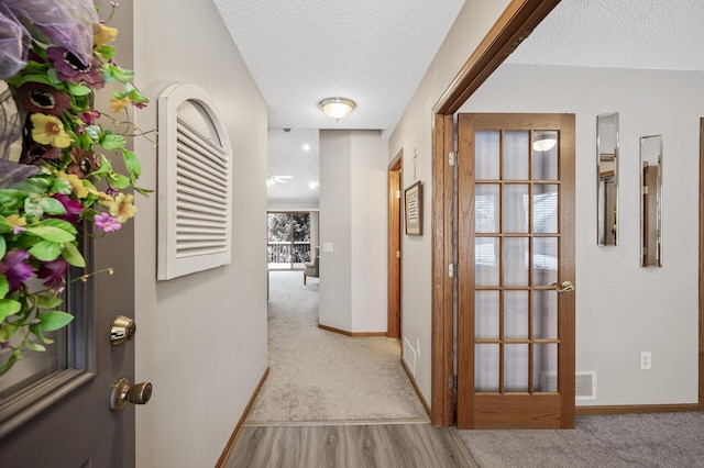
<instances>
[{"instance_id":1,"label":"beige hallway carpet beyond the wood-look entry planks","mask_svg":"<svg viewBox=\"0 0 704 468\"><path fill-rule=\"evenodd\" d=\"M428 421L396 339L318 328L318 279L271 271L270 374L246 424Z\"/></svg>"}]
</instances>

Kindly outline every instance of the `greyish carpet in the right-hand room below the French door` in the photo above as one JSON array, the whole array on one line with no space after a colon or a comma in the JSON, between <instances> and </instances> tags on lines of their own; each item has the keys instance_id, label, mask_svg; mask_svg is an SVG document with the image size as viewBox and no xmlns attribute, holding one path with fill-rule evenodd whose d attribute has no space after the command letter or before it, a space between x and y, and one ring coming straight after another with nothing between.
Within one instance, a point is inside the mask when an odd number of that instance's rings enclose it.
<instances>
[{"instance_id":1,"label":"greyish carpet in the right-hand room below the French door","mask_svg":"<svg viewBox=\"0 0 704 468\"><path fill-rule=\"evenodd\" d=\"M704 413L578 416L562 431L459 431L482 468L704 467Z\"/></svg>"}]
</instances>

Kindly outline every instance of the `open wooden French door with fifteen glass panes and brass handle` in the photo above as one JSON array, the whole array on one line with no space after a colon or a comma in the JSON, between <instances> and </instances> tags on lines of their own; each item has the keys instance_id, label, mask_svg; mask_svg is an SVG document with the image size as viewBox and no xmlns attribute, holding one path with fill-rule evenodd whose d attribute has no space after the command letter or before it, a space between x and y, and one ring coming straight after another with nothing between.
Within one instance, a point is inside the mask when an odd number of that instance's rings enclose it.
<instances>
[{"instance_id":1,"label":"open wooden French door with fifteen glass panes and brass handle","mask_svg":"<svg viewBox=\"0 0 704 468\"><path fill-rule=\"evenodd\" d=\"M574 427L574 115L459 114L458 427Z\"/></svg>"}]
</instances>

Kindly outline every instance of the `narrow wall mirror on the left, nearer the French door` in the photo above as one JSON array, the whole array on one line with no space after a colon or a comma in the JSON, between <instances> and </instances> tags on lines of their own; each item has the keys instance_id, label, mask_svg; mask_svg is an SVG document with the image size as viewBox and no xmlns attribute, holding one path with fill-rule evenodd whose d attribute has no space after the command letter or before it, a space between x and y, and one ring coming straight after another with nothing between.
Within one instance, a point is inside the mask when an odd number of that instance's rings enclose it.
<instances>
[{"instance_id":1,"label":"narrow wall mirror on the left, nearer the French door","mask_svg":"<svg viewBox=\"0 0 704 468\"><path fill-rule=\"evenodd\" d=\"M618 112L596 116L596 243L618 245Z\"/></svg>"}]
</instances>

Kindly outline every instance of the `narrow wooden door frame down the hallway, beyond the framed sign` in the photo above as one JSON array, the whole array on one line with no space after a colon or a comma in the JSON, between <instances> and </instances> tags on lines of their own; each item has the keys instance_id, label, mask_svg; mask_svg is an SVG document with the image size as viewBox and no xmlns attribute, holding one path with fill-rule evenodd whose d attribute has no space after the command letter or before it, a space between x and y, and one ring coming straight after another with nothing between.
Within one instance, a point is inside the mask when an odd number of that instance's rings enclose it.
<instances>
[{"instance_id":1,"label":"narrow wooden door frame down the hallway, beyond the framed sign","mask_svg":"<svg viewBox=\"0 0 704 468\"><path fill-rule=\"evenodd\" d=\"M399 190L404 183L402 169L404 168L404 151L398 152L388 165L388 276L387 276L387 314L388 326L386 335L400 339L400 261L396 261L396 253L400 252L400 197ZM397 187L393 183L398 180Z\"/></svg>"}]
</instances>

